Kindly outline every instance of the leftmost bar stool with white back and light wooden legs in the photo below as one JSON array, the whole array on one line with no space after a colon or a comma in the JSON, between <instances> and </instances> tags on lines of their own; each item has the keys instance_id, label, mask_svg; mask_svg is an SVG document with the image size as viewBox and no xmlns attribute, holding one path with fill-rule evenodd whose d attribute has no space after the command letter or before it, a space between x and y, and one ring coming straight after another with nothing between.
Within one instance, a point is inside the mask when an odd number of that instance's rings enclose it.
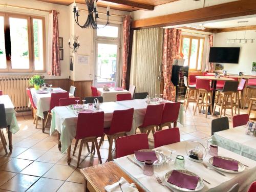
<instances>
[{"instance_id":1,"label":"leftmost bar stool with white back and light wooden legs","mask_svg":"<svg viewBox=\"0 0 256 192\"><path fill-rule=\"evenodd\" d=\"M187 81L187 77L184 76L184 84L187 88L186 94L185 94L185 99L184 99L184 104L183 106L185 106L185 112L187 111L187 106L189 103L196 103L197 102L197 89L196 89L196 85L189 85L188 81ZM194 97L191 97L191 93L194 92ZM193 108L194 109L194 108Z\"/></svg>"}]
</instances>

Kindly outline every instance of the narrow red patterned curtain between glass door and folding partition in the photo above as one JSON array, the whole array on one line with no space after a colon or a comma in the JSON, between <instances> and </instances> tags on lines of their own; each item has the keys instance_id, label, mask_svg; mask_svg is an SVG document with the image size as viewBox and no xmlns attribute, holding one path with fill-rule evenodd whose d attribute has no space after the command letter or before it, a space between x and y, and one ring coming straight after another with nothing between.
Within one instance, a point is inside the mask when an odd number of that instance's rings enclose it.
<instances>
[{"instance_id":1,"label":"narrow red patterned curtain between glass door and folding partition","mask_svg":"<svg viewBox=\"0 0 256 192\"><path fill-rule=\"evenodd\" d=\"M123 19L123 74L122 89L126 89L126 72L130 45L131 16L125 15Z\"/></svg>"}]
</instances>

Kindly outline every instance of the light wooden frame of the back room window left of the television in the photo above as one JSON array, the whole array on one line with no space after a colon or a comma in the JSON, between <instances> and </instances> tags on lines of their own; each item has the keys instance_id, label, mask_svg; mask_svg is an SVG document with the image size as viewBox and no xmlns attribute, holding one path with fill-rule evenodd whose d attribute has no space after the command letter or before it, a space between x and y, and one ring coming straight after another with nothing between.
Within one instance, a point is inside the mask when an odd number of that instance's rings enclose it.
<instances>
[{"instance_id":1,"label":"light wooden frame of the back room window left of the television","mask_svg":"<svg viewBox=\"0 0 256 192\"><path fill-rule=\"evenodd\" d=\"M205 37L199 37L199 36L193 36L193 35L182 35L181 37L181 46L180 46L180 53L182 53L183 49L183 39L184 38L189 38L189 50L188 50L188 62L187 66L189 71L202 71L202 62L203 62L203 54L204 54L204 41ZM191 56L191 47L192 47L192 39L198 39L198 49L197 49L197 63L196 63L196 68L190 69L190 56ZM201 54L201 68L198 69L198 59L199 59L199 52L200 52L200 40L203 40L203 49L202 49L202 54Z\"/></svg>"}]
</instances>

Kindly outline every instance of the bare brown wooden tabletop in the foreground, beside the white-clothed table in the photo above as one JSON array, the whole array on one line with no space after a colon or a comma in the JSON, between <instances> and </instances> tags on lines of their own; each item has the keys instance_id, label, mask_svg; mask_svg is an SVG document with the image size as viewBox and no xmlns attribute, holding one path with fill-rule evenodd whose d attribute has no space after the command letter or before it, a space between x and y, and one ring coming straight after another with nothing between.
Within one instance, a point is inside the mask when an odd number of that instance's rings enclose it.
<instances>
[{"instance_id":1,"label":"bare brown wooden tabletop in the foreground, beside the white-clothed table","mask_svg":"<svg viewBox=\"0 0 256 192\"><path fill-rule=\"evenodd\" d=\"M80 169L84 179L84 192L105 191L106 185L112 185L123 177L129 183L135 183L139 191L144 191L113 161Z\"/></svg>"}]
</instances>

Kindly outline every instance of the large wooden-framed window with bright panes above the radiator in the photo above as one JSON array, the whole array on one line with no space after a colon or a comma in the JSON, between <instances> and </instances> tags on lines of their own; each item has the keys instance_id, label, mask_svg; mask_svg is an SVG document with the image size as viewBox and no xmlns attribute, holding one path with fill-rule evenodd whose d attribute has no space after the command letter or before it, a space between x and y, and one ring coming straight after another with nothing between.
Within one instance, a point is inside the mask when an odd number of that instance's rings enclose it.
<instances>
[{"instance_id":1,"label":"large wooden-framed window with bright panes above the radiator","mask_svg":"<svg viewBox=\"0 0 256 192\"><path fill-rule=\"evenodd\" d=\"M45 71L45 19L0 13L0 71Z\"/></svg>"}]
</instances>

